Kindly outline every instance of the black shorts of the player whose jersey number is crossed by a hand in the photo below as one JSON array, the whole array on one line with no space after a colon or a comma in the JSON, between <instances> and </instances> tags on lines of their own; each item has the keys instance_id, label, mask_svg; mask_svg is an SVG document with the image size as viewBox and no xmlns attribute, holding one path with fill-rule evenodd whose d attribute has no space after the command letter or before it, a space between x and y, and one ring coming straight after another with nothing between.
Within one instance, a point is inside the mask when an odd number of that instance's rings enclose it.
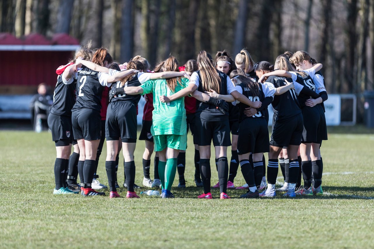
<instances>
[{"instance_id":1,"label":"black shorts of the player whose jersey number is crossed by a hand","mask_svg":"<svg viewBox=\"0 0 374 249\"><path fill-rule=\"evenodd\" d=\"M239 124L237 153L243 155L249 152L269 152L269 130L265 118L246 118Z\"/></svg>"}]
</instances>

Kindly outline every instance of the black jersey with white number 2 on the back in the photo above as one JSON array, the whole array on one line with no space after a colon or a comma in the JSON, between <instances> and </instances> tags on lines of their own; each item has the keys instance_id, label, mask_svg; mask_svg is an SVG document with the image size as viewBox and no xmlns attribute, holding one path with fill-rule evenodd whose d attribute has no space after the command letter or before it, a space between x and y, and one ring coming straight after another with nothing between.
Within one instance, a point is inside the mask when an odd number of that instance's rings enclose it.
<instances>
[{"instance_id":1,"label":"black jersey with white number 2 on the back","mask_svg":"<svg viewBox=\"0 0 374 249\"><path fill-rule=\"evenodd\" d=\"M73 110L81 108L101 110L101 96L104 86L99 82L99 73L89 68L82 68L77 78L77 100Z\"/></svg>"}]
</instances>

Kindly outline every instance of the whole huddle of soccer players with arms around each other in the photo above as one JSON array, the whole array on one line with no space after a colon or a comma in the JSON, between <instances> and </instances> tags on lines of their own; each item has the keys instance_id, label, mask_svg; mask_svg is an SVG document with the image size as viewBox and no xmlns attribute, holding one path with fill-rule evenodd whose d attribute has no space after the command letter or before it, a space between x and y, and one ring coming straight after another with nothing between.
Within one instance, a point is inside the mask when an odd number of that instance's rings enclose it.
<instances>
[{"instance_id":1,"label":"whole huddle of soccer players with arms around each other","mask_svg":"<svg viewBox=\"0 0 374 249\"><path fill-rule=\"evenodd\" d=\"M321 68L305 51L285 52L272 65L255 63L243 49L234 60L226 50L214 59L201 51L196 60L183 66L170 56L150 71L150 64L141 56L118 65L108 50L83 46L73 61L56 70L48 116L57 152L53 194L105 195L96 191L106 187L96 180L96 170L106 139L110 198L120 197L117 169L121 149L126 197L139 198L134 152L138 103L143 96L139 137L145 141L143 185L160 187L162 198L174 197L171 187L177 172L178 188L186 187L188 130L193 135L194 182L203 187L198 198L212 199L212 141L218 172L213 187L220 189L220 199L230 199L227 189L235 188L247 190L242 198L274 197L276 192L285 192L287 197L322 195L320 148L322 140L327 140L323 105L327 93ZM270 104L274 115L269 139ZM232 146L230 161L228 146ZM264 153L268 153L267 167ZM239 165L246 184L235 187ZM279 165L284 184L277 189Z\"/></svg>"}]
</instances>

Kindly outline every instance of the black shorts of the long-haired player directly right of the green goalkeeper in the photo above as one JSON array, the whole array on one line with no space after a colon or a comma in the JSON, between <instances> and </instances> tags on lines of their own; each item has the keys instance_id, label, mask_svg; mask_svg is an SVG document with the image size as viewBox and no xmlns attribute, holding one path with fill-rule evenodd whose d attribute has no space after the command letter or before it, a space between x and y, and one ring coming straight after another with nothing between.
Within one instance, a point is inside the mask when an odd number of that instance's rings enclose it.
<instances>
[{"instance_id":1,"label":"black shorts of the long-haired player directly right of the green goalkeeper","mask_svg":"<svg viewBox=\"0 0 374 249\"><path fill-rule=\"evenodd\" d=\"M199 146L231 146L229 121L202 121L195 119L194 144Z\"/></svg>"}]
</instances>

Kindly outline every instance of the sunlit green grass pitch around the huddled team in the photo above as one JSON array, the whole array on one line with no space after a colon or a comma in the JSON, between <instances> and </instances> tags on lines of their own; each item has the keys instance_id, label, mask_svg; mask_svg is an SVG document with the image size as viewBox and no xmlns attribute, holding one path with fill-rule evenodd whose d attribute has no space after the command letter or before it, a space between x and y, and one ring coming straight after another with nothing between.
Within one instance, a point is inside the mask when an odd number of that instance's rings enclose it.
<instances>
[{"instance_id":1,"label":"sunlit green grass pitch around the huddled team","mask_svg":"<svg viewBox=\"0 0 374 249\"><path fill-rule=\"evenodd\" d=\"M177 189L175 181L177 198L109 199L109 190L104 197L54 196L50 133L0 131L0 247L373 247L374 134L329 134L322 146L324 196L251 200L238 198L243 190L228 190L230 200L220 200L218 190L212 190L213 200L197 199L202 189L194 187L188 138L187 188ZM140 141L135 151L138 185L143 149ZM104 161L101 156L98 174L105 184ZM214 168L212 184L218 179ZM239 169L235 185L242 184ZM125 196L125 189L119 194Z\"/></svg>"}]
</instances>

